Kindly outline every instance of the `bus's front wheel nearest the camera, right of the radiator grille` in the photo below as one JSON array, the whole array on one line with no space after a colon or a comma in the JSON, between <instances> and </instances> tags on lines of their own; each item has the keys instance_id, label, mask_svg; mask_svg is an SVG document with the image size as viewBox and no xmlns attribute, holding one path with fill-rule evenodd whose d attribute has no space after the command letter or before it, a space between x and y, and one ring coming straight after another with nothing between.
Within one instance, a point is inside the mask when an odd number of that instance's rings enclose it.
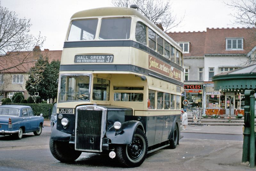
<instances>
[{"instance_id":1,"label":"bus's front wheel nearest the camera, right of the radiator grille","mask_svg":"<svg viewBox=\"0 0 256 171\"><path fill-rule=\"evenodd\" d=\"M137 129L134 133L132 143L119 145L116 148L116 157L124 167L138 167L146 158L148 153L148 140L145 133Z\"/></svg>"}]
</instances>

